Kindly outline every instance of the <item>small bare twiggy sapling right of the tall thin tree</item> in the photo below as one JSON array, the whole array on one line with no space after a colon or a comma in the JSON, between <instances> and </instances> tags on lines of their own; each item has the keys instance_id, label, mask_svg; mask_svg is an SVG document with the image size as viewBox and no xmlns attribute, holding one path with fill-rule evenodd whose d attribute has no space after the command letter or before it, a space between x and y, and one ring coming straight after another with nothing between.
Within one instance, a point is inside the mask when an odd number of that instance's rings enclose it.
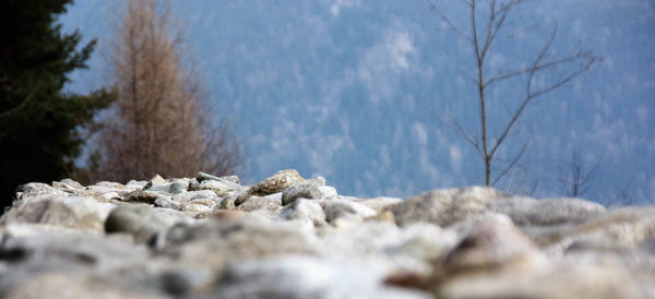
<instances>
[{"instance_id":1,"label":"small bare twiggy sapling right of the tall thin tree","mask_svg":"<svg viewBox=\"0 0 655 299\"><path fill-rule=\"evenodd\" d=\"M577 198L590 191L600 169L602 160L603 156L590 167L580 153L576 151L571 153L571 158L565 160L564 167L560 169L559 178L568 196Z\"/></svg>"}]
</instances>

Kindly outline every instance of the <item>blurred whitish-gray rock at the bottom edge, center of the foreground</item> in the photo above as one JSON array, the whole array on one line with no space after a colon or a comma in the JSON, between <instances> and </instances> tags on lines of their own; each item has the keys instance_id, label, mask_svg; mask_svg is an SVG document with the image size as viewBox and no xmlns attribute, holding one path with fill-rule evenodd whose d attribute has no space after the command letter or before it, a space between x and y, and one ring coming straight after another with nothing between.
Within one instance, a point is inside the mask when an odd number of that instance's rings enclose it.
<instances>
[{"instance_id":1,"label":"blurred whitish-gray rock at the bottom edge, center of the foreground","mask_svg":"<svg viewBox=\"0 0 655 299\"><path fill-rule=\"evenodd\" d=\"M384 286L386 270L374 263L286 255L231 263L217 298L430 298L426 292Z\"/></svg>"}]
</instances>

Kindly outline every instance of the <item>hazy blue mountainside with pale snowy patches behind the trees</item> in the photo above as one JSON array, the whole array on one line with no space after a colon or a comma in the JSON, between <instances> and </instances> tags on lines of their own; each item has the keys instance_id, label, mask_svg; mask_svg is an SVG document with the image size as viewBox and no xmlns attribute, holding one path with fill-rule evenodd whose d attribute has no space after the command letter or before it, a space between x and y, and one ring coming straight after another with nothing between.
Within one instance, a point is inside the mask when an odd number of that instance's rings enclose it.
<instances>
[{"instance_id":1,"label":"hazy blue mountainside with pale snowy patches behind the trees","mask_svg":"<svg viewBox=\"0 0 655 299\"><path fill-rule=\"evenodd\" d=\"M103 50L117 3L78 1L61 19L100 43L71 91L106 82ZM463 10L437 3L466 24ZM476 152L442 121L452 115L472 132L479 127L475 89L463 75L471 49L426 1L174 1L172 11L216 116L229 117L245 143L247 181L293 167L369 196L481 182ZM653 14L647 1L546 1L520 11L523 21L558 25L557 51L593 48L604 63L528 109L512 146L499 152L502 160L528 140L524 167L498 188L521 193L538 181L535 196L562 194L559 171L576 150L590 163L603 156L586 198L604 201L629 187L635 202L652 200ZM545 41L516 38L521 48L493 56L495 65ZM516 86L503 88L492 94L495 123Z\"/></svg>"}]
</instances>

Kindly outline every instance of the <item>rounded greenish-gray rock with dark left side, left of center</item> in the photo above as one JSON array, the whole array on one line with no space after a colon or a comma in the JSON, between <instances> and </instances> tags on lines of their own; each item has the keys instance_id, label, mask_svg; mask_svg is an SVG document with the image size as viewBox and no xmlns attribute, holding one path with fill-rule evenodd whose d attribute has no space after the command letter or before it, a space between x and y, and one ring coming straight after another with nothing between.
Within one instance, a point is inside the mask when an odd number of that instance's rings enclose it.
<instances>
[{"instance_id":1,"label":"rounded greenish-gray rock with dark left side, left of center","mask_svg":"<svg viewBox=\"0 0 655 299\"><path fill-rule=\"evenodd\" d=\"M130 234L136 242L145 243L159 230L171 226L174 222L175 219L170 219L148 206L126 205L109 213L105 222L105 231L107 234Z\"/></svg>"}]
</instances>

